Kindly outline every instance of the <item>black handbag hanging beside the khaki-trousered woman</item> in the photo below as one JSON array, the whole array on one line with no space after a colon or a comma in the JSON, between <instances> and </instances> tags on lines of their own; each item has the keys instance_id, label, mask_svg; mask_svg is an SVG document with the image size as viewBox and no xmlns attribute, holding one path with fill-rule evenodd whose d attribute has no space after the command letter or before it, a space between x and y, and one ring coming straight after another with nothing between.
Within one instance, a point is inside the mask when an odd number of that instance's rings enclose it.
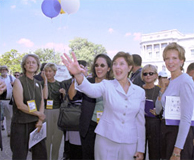
<instances>
[{"instance_id":1,"label":"black handbag hanging beside the khaki-trousered woman","mask_svg":"<svg viewBox=\"0 0 194 160\"><path fill-rule=\"evenodd\" d=\"M58 128L62 131L79 131L80 114L81 106L71 103L66 97L60 106Z\"/></svg>"}]
</instances>

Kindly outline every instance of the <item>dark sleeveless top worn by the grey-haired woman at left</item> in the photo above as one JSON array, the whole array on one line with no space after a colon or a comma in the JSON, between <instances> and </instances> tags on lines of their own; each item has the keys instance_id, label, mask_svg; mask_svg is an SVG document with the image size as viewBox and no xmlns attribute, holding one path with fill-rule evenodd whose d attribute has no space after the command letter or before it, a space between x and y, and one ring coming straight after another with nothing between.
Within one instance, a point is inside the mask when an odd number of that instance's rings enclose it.
<instances>
[{"instance_id":1,"label":"dark sleeveless top worn by the grey-haired woman at left","mask_svg":"<svg viewBox=\"0 0 194 160\"><path fill-rule=\"evenodd\" d=\"M42 86L41 83L36 79L30 79L23 75L19 78L23 87L23 103L27 105L27 101L35 100L37 110L39 111L41 100L42 100ZM38 121L38 117L22 112L13 103L13 123L30 123Z\"/></svg>"}]
</instances>

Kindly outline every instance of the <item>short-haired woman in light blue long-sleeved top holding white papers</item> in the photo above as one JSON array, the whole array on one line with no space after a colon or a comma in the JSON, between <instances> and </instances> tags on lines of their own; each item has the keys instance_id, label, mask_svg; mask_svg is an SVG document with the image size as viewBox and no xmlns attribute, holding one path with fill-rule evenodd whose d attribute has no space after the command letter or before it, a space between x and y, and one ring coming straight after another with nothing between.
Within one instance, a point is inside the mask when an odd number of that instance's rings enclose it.
<instances>
[{"instance_id":1,"label":"short-haired woman in light blue long-sleeved top holding white papers","mask_svg":"<svg viewBox=\"0 0 194 160\"><path fill-rule=\"evenodd\" d=\"M183 73L185 62L185 49L177 43L170 43L163 51L166 68L170 71L170 80L162 82L156 113L163 112L161 122L161 158L170 160L192 159L193 134L191 131L191 118L194 108L194 84L192 78ZM180 98L180 123L167 124L165 106L166 97Z\"/></svg>"}]
</instances>

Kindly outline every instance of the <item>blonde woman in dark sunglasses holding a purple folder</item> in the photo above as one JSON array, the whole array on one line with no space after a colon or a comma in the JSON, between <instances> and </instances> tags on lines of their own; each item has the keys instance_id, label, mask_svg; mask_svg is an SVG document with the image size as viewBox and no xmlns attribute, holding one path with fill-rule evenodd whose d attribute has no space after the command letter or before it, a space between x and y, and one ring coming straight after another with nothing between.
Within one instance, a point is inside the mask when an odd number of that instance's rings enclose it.
<instances>
[{"instance_id":1,"label":"blonde woman in dark sunglasses holding a purple folder","mask_svg":"<svg viewBox=\"0 0 194 160\"><path fill-rule=\"evenodd\" d=\"M155 101L160 88L154 84L158 78L157 69L154 65L147 64L141 70L141 79L145 82L142 88L145 90L145 120L146 120L146 146L150 160L160 159L160 118L155 116Z\"/></svg>"}]
</instances>

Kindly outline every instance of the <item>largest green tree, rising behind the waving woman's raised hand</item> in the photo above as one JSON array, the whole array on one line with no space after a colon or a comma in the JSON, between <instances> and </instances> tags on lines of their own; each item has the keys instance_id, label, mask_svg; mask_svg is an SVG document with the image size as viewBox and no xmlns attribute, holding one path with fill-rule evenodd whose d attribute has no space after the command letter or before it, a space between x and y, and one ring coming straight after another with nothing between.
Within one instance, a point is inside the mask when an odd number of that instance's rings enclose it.
<instances>
[{"instance_id":1,"label":"largest green tree, rising behind the waving woman's raised hand","mask_svg":"<svg viewBox=\"0 0 194 160\"><path fill-rule=\"evenodd\" d=\"M97 54L107 54L106 49L102 45L94 44L84 38L71 40L69 47L71 51L75 52L77 59L86 60L89 65L92 64Z\"/></svg>"}]
</instances>

